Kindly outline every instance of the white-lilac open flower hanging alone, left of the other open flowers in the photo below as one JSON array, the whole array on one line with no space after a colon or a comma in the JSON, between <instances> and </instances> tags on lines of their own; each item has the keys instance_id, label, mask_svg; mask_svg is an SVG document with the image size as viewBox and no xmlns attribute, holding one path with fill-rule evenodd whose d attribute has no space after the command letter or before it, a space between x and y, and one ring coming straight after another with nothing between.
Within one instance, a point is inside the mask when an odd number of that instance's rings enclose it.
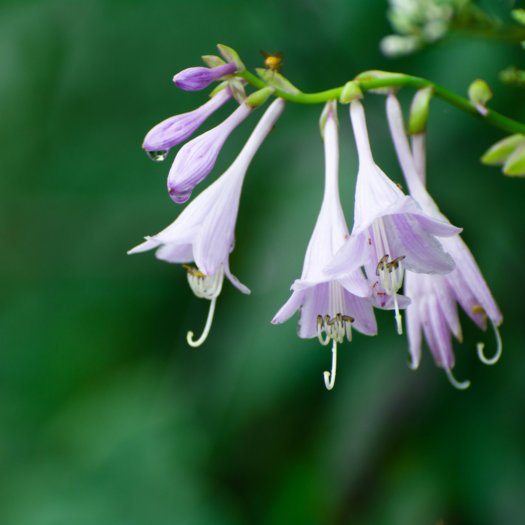
<instances>
[{"instance_id":1,"label":"white-lilac open flower hanging alone, left of the other open flowers","mask_svg":"<svg viewBox=\"0 0 525 525\"><path fill-rule=\"evenodd\" d=\"M284 106L284 100L274 101L228 170L198 195L173 224L157 235L145 237L144 243L128 252L134 254L160 246L155 254L159 259L182 264L195 261L197 268L186 267L188 282L197 297L205 297L211 303L202 336L193 341L193 332L187 334L187 341L192 346L202 344L207 337L225 275L241 292L250 293L229 269L240 192L251 159Z\"/></svg>"}]
</instances>

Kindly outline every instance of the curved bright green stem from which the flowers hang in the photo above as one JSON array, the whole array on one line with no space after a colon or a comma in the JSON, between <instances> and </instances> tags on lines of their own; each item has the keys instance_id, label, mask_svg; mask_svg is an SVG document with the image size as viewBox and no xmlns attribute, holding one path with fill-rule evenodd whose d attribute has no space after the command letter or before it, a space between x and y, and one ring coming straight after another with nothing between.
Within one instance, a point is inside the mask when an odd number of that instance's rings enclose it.
<instances>
[{"instance_id":1,"label":"curved bright green stem from which the flowers hang","mask_svg":"<svg viewBox=\"0 0 525 525\"><path fill-rule=\"evenodd\" d=\"M255 75L252 75L249 71L243 71L241 74L237 75L239 77L243 77L247 82L258 89L268 86L266 82L262 81L260 78L257 78ZM389 73L387 75L396 74ZM452 104L452 106L455 106L461 111L465 111L465 113L468 113L470 116L475 117L478 120L485 121L487 124L491 124L496 128L500 128L509 133L525 134L525 124L522 124L521 122L513 119L509 119L508 117L505 117L501 113L498 113L492 109L490 109L487 116L484 117L476 110L476 108L474 108L474 106L472 106L468 99L460 97L453 91L439 86L434 82L430 82L429 80L425 80L424 78L399 74L398 76L390 76L381 79L371 78L370 80L359 80L358 83L361 91L363 92L376 88L407 86L421 89L427 86L432 86L434 88L434 95L436 97L439 97L445 102ZM300 93L299 95L293 95L292 93L286 93L285 91L276 89L275 95L285 100L289 100L290 102L297 102L299 104L319 104L327 102L328 100L339 99L343 87L344 86L329 89L327 91L320 91L319 93Z\"/></svg>"}]
</instances>

